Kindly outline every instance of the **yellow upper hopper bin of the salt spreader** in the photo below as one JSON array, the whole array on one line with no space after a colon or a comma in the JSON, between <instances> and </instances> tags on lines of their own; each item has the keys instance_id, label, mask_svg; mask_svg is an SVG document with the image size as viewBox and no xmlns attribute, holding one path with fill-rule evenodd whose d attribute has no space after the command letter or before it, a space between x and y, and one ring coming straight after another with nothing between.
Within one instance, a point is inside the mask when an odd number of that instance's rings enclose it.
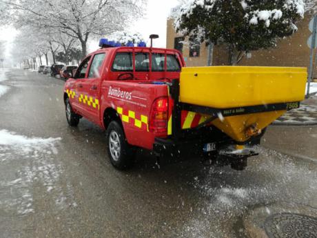
<instances>
[{"instance_id":1,"label":"yellow upper hopper bin of the salt spreader","mask_svg":"<svg viewBox=\"0 0 317 238\"><path fill-rule=\"evenodd\" d=\"M182 68L180 101L212 108L302 101L305 97L306 81L306 68Z\"/></svg>"}]
</instances>

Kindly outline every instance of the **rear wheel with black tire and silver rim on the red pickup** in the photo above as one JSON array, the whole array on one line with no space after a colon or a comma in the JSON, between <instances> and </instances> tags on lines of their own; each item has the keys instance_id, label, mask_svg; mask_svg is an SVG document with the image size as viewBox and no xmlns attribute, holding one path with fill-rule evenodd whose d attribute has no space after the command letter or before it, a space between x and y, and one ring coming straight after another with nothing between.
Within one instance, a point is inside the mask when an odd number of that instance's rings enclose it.
<instances>
[{"instance_id":1,"label":"rear wheel with black tire and silver rim on the red pickup","mask_svg":"<svg viewBox=\"0 0 317 238\"><path fill-rule=\"evenodd\" d=\"M125 170L134 163L134 150L127 143L122 126L117 121L110 122L107 132L107 152L114 168Z\"/></svg>"}]
</instances>

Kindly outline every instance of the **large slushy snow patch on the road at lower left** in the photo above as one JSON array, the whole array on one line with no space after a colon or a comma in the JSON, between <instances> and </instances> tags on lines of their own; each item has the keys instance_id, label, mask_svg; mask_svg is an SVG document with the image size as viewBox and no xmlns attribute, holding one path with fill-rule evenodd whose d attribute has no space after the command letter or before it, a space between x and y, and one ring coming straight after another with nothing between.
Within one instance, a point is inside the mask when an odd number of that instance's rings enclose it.
<instances>
[{"instance_id":1,"label":"large slushy snow patch on the road at lower left","mask_svg":"<svg viewBox=\"0 0 317 238\"><path fill-rule=\"evenodd\" d=\"M67 206L65 194L72 191L61 189L63 169L56 156L59 141L61 138L25 137L0 130L0 210L14 215L35 212L35 184L50 195L57 192L51 196L57 208Z\"/></svg>"}]
</instances>

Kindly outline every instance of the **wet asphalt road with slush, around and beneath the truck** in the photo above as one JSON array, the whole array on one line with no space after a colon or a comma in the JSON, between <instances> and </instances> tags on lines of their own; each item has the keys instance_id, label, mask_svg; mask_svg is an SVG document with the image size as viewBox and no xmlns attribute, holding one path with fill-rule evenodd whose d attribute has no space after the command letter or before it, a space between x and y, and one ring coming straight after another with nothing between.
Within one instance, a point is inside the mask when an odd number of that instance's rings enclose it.
<instances>
[{"instance_id":1,"label":"wet asphalt road with slush, around and beneath the truck","mask_svg":"<svg viewBox=\"0 0 317 238\"><path fill-rule=\"evenodd\" d=\"M157 168L142 151L120 172L101 129L68 127L63 81L0 70L0 85L1 238L245 237L254 207L317 208L316 126L270 127L242 172L194 157Z\"/></svg>"}]
</instances>

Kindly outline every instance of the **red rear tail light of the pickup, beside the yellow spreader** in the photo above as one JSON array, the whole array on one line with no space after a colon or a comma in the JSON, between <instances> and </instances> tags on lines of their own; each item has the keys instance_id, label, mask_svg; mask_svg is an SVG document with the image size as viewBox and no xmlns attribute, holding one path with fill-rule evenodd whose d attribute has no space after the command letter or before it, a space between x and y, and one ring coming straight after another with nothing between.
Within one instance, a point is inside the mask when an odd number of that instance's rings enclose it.
<instances>
[{"instance_id":1,"label":"red rear tail light of the pickup, beside the yellow spreader","mask_svg":"<svg viewBox=\"0 0 317 238\"><path fill-rule=\"evenodd\" d=\"M160 97L152 105L149 129L151 132L167 132L168 99Z\"/></svg>"}]
</instances>

